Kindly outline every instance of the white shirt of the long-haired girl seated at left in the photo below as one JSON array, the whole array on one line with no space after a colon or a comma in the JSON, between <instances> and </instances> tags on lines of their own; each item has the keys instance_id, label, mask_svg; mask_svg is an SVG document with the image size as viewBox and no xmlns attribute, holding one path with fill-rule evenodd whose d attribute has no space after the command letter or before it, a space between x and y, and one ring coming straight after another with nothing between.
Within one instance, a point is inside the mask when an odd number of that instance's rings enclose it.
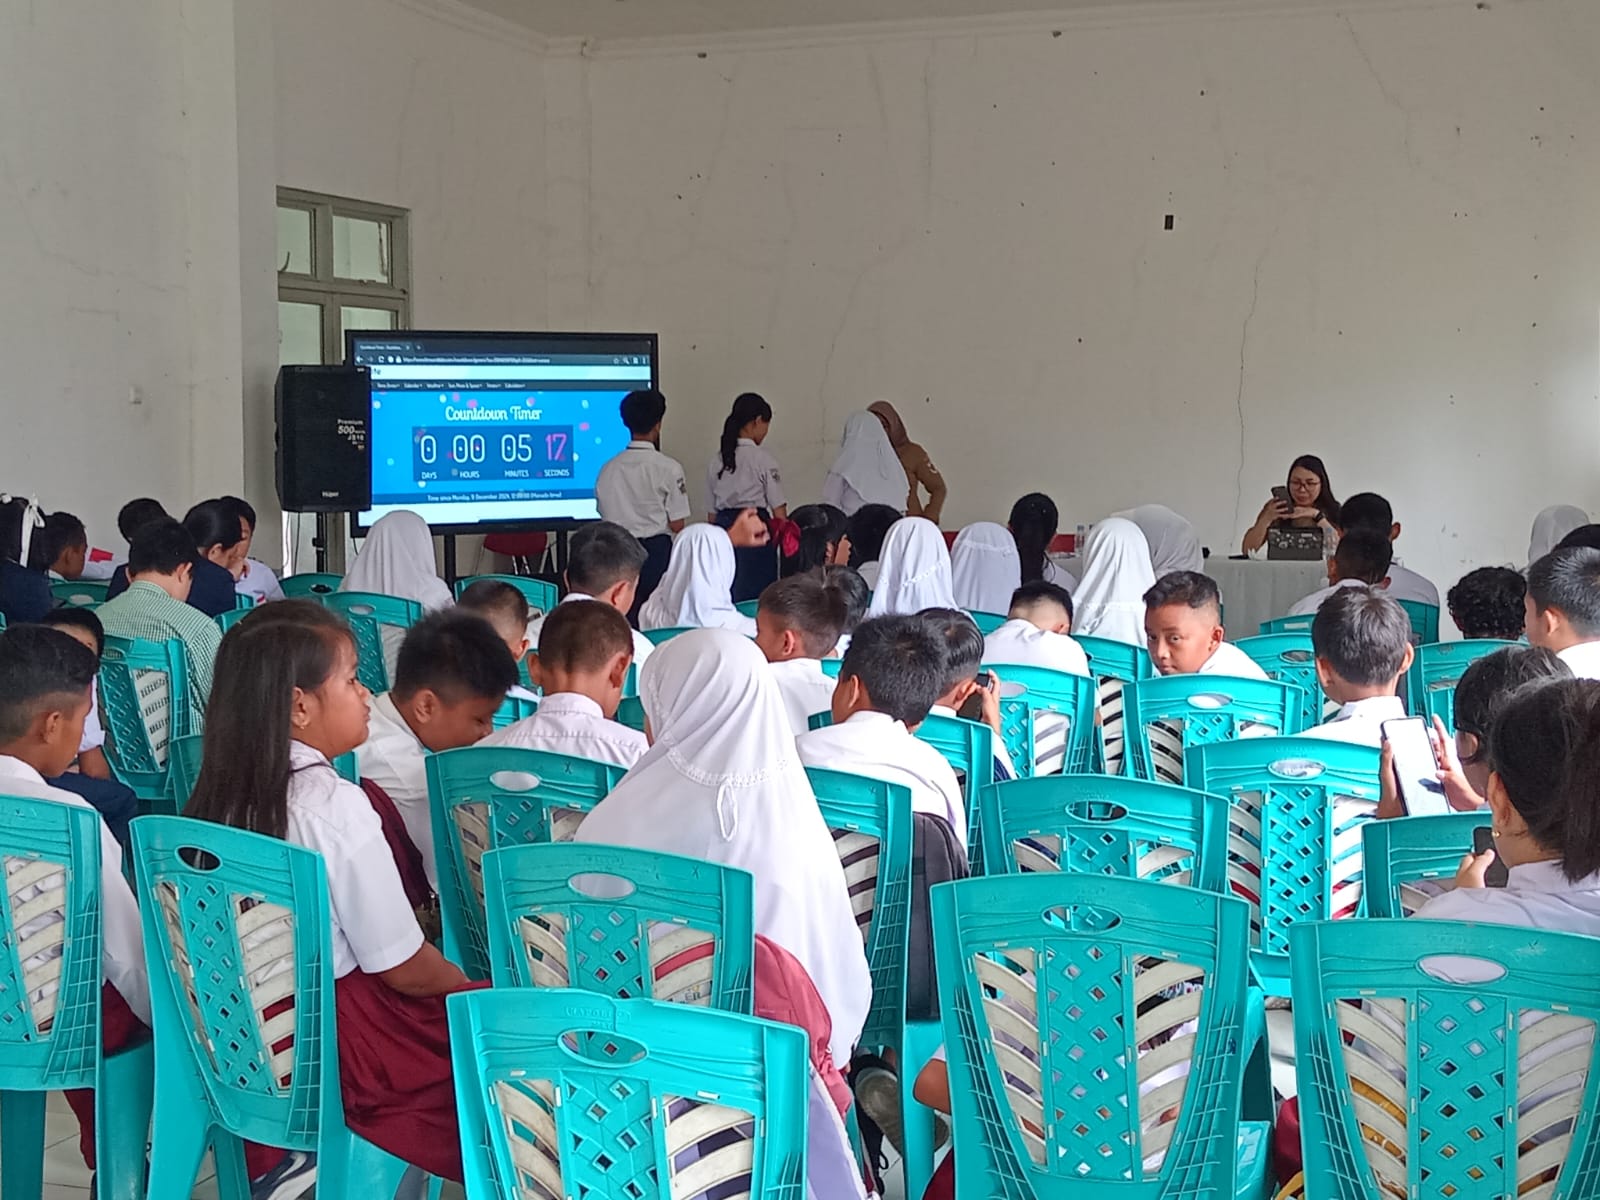
<instances>
[{"instance_id":1,"label":"white shirt of the long-haired girl seated at left","mask_svg":"<svg viewBox=\"0 0 1600 1200\"><path fill-rule=\"evenodd\" d=\"M371 800L304 742L290 742L290 768L283 840L318 851L326 867L333 978L392 971L422 949L422 928Z\"/></svg>"}]
</instances>

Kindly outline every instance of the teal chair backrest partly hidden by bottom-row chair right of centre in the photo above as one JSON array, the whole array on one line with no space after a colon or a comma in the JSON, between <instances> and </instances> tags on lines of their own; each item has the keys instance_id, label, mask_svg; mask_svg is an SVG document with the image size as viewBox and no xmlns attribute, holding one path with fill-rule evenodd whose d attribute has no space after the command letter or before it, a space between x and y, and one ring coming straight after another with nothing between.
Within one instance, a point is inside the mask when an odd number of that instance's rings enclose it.
<instances>
[{"instance_id":1,"label":"teal chair backrest partly hidden by bottom-row chair right of centre","mask_svg":"<svg viewBox=\"0 0 1600 1200\"><path fill-rule=\"evenodd\" d=\"M1070 870L1227 890L1227 803L1107 774L995 784L982 802L984 872Z\"/></svg>"}]
</instances>

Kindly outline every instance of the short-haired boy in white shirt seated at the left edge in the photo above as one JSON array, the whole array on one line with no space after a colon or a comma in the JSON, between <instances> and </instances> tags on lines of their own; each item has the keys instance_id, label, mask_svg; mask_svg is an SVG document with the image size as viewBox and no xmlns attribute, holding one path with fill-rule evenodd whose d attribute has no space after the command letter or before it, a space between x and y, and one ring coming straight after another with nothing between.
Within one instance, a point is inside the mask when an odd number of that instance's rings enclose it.
<instances>
[{"instance_id":1,"label":"short-haired boy in white shirt seated at the left edge","mask_svg":"<svg viewBox=\"0 0 1600 1200\"><path fill-rule=\"evenodd\" d=\"M72 792L51 787L46 778L66 773L78 754L83 739L83 720L90 712L90 686L94 682L94 653L59 629L18 626L0 632L0 795L51 800L74 808L90 810L90 805ZM90 810L93 811L93 810ZM139 930L139 909L134 904L128 880L122 874L122 846L110 835L104 821L96 819L101 850L101 968L102 1000L101 1021L107 1050L120 1048L150 1024L150 986L144 973L144 938ZM16 866L26 870L26 864ZM24 910L34 899L34 888L22 886L11 893L13 912ZM46 909L27 920L21 930L24 946L50 942L42 938L30 942L40 930L59 923L59 909ZM30 954L24 973L45 968L50 958L59 958L59 944L38 954ZM13 995L10 1005L14 1008ZM48 1000L35 997L32 1019L53 1013ZM24 997L19 1019L27 1022L29 1003ZM80 1146L90 1168L94 1166L94 1093L75 1090L67 1093L67 1102L78 1117ZM35 1146L35 1150L38 1147Z\"/></svg>"}]
</instances>

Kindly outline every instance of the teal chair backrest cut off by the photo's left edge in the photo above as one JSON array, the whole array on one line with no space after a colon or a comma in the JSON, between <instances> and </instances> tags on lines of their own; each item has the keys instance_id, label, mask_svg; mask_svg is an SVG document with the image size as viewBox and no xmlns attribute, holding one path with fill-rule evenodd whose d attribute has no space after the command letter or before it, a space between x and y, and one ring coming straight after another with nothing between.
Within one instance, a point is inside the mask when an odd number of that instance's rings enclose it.
<instances>
[{"instance_id":1,"label":"teal chair backrest cut off by the photo's left edge","mask_svg":"<svg viewBox=\"0 0 1600 1200\"><path fill-rule=\"evenodd\" d=\"M0 1078L6 1090L96 1083L99 851L93 808L0 795Z\"/></svg>"}]
</instances>

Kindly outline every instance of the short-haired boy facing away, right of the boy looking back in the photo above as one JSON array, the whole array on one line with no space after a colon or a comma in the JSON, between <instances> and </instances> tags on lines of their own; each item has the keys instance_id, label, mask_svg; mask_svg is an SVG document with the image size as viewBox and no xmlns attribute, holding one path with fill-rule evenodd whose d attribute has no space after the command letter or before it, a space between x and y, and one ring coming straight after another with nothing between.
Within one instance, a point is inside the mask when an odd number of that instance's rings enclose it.
<instances>
[{"instance_id":1,"label":"short-haired boy facing away, right of the boy looking back","mask_svg":"<svg viewBox=\"0 0 1600 1200\"><path fill-rule=\"evenodd\" d=\"M1344 587L1317 610L1310 642L1317 678L1339 714L1306 736L1381 747L1382 723L1405 717L1398 693L1416 653L1411 619L1376 587Z\"/></svg>"}]
</instances>

